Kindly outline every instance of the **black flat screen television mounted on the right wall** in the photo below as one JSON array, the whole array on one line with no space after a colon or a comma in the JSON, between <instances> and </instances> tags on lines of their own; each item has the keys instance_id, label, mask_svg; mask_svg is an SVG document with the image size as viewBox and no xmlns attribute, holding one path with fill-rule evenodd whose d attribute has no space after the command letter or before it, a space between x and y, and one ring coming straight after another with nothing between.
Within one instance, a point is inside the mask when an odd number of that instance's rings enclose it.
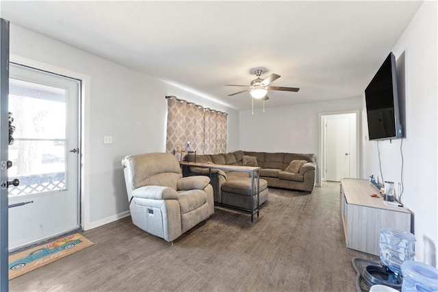
<instances>
[{"instance_id":1,"label":"black flat screen television mounted on the right wall","mask_svg":"<svg viewBox=\"0 0 438 292\"><path fill-rule=\"evenodd\" d=\"M370 140L402 138L396 58L391 52L365 89Z\"/></svg>"}]
</instances>

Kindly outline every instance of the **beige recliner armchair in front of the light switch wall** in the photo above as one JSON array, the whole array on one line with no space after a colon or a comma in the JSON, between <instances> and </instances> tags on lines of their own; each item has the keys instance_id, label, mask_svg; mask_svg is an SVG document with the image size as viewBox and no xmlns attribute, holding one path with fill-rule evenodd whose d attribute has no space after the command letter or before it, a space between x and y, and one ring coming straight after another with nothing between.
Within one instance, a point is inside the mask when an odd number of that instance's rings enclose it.
<instances>
[{"instance_id":1,"label":"beige recliner armchair in front of the light switch wall","mask_svg":"<svg viewBox=\"0 0 438 292\"><path fill-rule=\"evenodd\" d=\"M175 156L136 154L122 160L132 222L166 241L174 241L214 213L207 176L183 178Z\"/></svg>"}]
</instances>

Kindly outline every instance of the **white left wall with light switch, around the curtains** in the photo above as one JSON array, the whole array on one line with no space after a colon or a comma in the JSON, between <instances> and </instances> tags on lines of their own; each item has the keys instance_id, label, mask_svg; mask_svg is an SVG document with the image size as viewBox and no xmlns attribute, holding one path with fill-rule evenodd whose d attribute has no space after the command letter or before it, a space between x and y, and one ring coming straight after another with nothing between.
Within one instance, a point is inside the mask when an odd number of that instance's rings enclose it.
<instances>
[{"instance_id":1,"label":"white left wall with light switch, around the curtains","mask_svg":"<svg viewBox=\"0 0 438 292\"><path fill-rule=\"evenodd\" d=\"M85 199L86 228L108 223L128 214L120 164L127 154L165 151L166 95L176 95L228 112L228 141L238 145L238 112L205 100L154 77L109 62L85 51L27 29L11 25L10 53L86 75L85 98ZM111 135L113 144L103 144Z\"/></svg>"}]
</instances>

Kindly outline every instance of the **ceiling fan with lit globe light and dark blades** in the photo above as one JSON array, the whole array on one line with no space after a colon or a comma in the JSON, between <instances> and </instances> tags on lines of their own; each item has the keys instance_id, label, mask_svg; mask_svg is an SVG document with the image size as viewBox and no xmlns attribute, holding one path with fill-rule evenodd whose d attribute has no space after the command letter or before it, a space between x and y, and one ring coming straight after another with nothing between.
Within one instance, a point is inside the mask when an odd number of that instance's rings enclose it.
<instances>
[{"instance_id":1,"label":"ceiling fan with lit globe light and dark blades","mask_svg":"<svg viewBox=\"0 0 438 292\"><path fill-rule=\"evenodd\" d=\"M281 90L281 91L294 91L297 92L300 90L300 88L296 87L285 87L285 86L270 86L271 82L274 82L275 80L279 79L281 76L275 73L272 73L265 79L261 79L260 75L263 73L263 71L266 71L266 69L253 69L251 73L255 74L257 77L255 80L252 80L250 83L250 86L246 85L236 85L236 84L225 84L226 86L245 86L248 87L248 89L239 91L237 93L232 93L231 95L228 95L229 97L233 95L238 95L239 93L244 93L246 91L250 92L250 95L254 97L255 99L263 99L268 100L269 97L267 95L268 90Z\"/></svg>"}]
</instances>

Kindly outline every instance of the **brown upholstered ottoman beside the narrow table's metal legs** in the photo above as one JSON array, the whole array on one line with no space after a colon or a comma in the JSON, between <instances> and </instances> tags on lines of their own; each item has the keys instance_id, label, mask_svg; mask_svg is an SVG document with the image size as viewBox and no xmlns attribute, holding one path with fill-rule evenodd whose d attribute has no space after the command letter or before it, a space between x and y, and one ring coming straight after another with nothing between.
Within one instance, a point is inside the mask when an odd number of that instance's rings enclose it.
<instances>
[{"instance_id":1,"label":"brown upholstered ottoman beside the narrow table's metal legs","mask_svg":"<svg viewBox=\"0 0 438 292\"><path fill-rule=\"evenodd\" d=\"M260 205L268 200L268 182L260 179ZM234 178L222 184L222 204L251 209L251 178ZM257 207L257 180L254 183L254 208Z\"/></svg>"}]
</instances>

